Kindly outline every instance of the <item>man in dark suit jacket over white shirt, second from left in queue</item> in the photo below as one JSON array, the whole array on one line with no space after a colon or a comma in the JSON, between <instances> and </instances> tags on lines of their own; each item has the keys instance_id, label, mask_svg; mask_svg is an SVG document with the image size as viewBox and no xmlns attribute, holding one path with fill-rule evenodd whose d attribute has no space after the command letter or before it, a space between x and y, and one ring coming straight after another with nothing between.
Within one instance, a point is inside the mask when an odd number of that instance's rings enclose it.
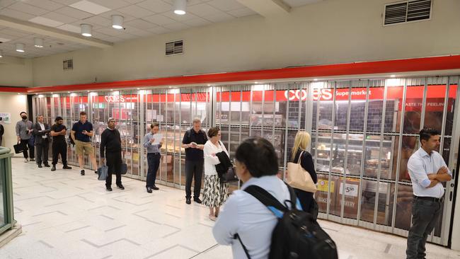
<instances>
[{"instance_id":1,"label":"man in dark suit jacket over white shirt, second from left in queue","mask_svg":"<svg viewBox=\"0 0 460 259\"><path fill-rule=\"evenodd\" d=\"M37 165L39 168L42 168L42 162L45 167L50 167L48 164L50 132L50 125L43 122L43 115L38 115L37 123L33 125L33 134L35 135L35 150L37 151Z\"/></svg>"}]
</instances>

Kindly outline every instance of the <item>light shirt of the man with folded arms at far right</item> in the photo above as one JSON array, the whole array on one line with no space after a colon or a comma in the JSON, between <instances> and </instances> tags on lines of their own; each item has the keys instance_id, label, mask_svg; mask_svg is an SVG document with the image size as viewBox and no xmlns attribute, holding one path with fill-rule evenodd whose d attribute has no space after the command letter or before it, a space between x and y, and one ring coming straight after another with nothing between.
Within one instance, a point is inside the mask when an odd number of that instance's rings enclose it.
<instances>
[{"instance_id":1,"label":"light shirt of the man with folded arms at far right","mask_svg":"<svg viewBox=\"0 0 460 259\"><path fill-rule=\"evenodd\" d=\"M443 166L447 167L446 162L444 162L444 159L437 151L432 151L430 155L420 147L418 151L415 151L410 156L408 171L415 196L440 198L444 195L444 186L442 186L442 183L437 183L432 188L428 188L431 184L428 175L430 173L437 173L439 168ZM452 176L450 170L448 173Z\"/></svg>"}]
</instances>

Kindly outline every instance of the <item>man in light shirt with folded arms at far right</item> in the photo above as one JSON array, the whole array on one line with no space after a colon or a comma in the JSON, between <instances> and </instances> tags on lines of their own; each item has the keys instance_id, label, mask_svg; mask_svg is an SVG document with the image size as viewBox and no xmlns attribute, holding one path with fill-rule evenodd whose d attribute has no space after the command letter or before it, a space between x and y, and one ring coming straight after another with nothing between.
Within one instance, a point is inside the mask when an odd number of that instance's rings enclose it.
<instances>
[{"instance_id":1,"label":"man in light shirt with folded arms at far right","mask_svg":"<svg viewBox=\"0 0 460 259\"><path fill-rule=\"evenodd\" d=\"M408 234L407 259L425 258L427 236L434 229L444 204L442 183L452 180L439 149L440 133L436 129L420 131L421 147L410 156L408 171L413 187L412 226Z\"/></svg>"}]
</instances>

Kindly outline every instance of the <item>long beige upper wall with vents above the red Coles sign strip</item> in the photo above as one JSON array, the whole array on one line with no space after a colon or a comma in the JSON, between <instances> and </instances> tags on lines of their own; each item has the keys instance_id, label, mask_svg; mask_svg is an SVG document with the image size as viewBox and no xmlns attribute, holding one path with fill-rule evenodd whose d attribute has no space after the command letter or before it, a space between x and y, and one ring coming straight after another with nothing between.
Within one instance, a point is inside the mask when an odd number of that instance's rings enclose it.
<instances>
[{"instance_id":1,"label":"long beige upper wall with vents above the red Coles sign strip","mask_svg":"<svg viewBox=\"0 0 460 259\"><path fill-rule=\"evenodd\" d=\"M431 21L382 26L391 0L327 0L289 15L250 16L178 33L33 59L35 86L146 79L459 54L458 0L434 1ZM185 40L185 54L165 57L164 43ZM74 58L74 70L62 60Z\"/></svg>"}]
</instances>

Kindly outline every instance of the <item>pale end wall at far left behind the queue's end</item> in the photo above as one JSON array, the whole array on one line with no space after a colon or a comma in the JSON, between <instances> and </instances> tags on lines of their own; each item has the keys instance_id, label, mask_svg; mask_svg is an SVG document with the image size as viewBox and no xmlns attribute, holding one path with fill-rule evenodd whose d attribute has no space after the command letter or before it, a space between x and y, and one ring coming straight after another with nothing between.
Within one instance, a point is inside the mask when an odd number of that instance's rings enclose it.
<instances>
[{"instance_id":1,"label":"pale end wall at far left behind the queue's end","mask_svg":"<svg viewBox=\"0 0 460 259\"><path fill-rule=\"evenodd\" d=\"M19 113L23 111L27 112L27 96L23 94L18 95L17 93L0 93L0 113L11 113L11 124L5 124L1 122L5 128L5 134L3 136L3 142L1 145L11 149L13 153L13 145L16 144L17 141L16 122L21 120Z\"/></svg>"}]
</instances>

